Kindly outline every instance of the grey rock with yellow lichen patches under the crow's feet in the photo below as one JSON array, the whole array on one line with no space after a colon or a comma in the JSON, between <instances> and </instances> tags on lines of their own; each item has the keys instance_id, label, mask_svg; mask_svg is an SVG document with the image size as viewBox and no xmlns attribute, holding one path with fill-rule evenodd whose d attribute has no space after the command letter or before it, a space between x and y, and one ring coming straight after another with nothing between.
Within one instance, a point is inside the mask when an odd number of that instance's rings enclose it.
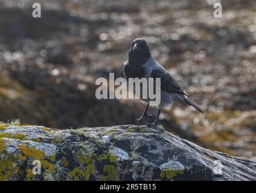
<instances>
[{"instance_id":1,"label":"grey rock with yellow lichen patches under the crow's feet","mask_svg":"<svg viewBox=\"0 0 256 193\"><path fill-rule=\"evenodd\" d=\"M256 180L256 162L206 150L162 127L2 123L0 180Z\"/></svg>"}]
</instances>

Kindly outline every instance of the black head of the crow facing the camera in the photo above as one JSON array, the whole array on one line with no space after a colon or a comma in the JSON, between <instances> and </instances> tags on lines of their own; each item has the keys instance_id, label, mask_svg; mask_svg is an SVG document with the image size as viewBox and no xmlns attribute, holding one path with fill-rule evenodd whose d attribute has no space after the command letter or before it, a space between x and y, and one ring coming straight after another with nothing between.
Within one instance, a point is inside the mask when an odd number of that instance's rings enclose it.
<instances>
[{"instance_id":1,"label":"black head of the crow facing the camera","mask_svg":"<svg viewBox=\"0 0 256 193\"><path fill-rule=\"evenodd\" d=\"M140 38L133 40L129 51L129 60L146 62L148 59L150 59L150 57L150 49L146 40Z\"/></svg>"}]
</instances>

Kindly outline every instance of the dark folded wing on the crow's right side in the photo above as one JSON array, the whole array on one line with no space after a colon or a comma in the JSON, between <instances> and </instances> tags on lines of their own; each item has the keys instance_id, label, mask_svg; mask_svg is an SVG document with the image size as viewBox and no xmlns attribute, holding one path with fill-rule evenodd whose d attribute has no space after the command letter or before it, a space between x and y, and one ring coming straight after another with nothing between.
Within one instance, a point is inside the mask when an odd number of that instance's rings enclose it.
<instances>
[{"instance_id":1,"label":"dark folded wing on the crow's right side","mask_svg":"<svg viewBox=\"0 0 256 193\"><path fill-rule=\"evenodd\" d=\"M155 68L152 68L150 77L161 78L161 89L170 93L179 93L181 95L188 96L185 90L179 86L174 78L171 77L171 75L160 64L156 63Z\"/></svg>"}]
</instances>

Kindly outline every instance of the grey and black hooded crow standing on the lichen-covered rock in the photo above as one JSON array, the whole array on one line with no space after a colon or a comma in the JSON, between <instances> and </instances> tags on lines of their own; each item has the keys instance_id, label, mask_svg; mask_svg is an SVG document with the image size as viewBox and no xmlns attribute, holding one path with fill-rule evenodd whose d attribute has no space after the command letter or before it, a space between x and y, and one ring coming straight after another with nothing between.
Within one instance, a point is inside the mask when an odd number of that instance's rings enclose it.
<instances>
[{"instance_id":1,"label":"grey and black hooded crow standing on the lichen-covered rock","mask_svg":"<svg viewBox=\"0 0 256 193\"><path fill-rule=\"evenodd\" d=\"M170 110L174 102L184 106L193 106L196 110L203 111L188 99L188 94L179 86L179 83L171 77L170 73L156 60L153 59L150 48L146 40L137 38L133 40L128 54L128 60L121 66L121 75L123 78L161 78L161 102L158 106L158 114L151 126L158 125L159 115L163 109ZM149 99L141 99L142 103L147 103L146 109L142 115L135 119L141 121L146 117L151 117L147 110L149 109Z\"/></svg>"}]
</instances>

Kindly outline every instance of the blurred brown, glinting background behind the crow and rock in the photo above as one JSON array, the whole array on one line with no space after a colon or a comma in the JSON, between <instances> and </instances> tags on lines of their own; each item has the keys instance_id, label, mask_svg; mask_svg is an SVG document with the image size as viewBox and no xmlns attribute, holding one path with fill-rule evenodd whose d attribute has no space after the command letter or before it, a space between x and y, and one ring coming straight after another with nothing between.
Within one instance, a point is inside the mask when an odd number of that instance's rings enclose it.
<instances>
[{"instance_id":1,"label":"blurred brown, glinting background behind the crow and rock","mask_svg":"<svg viewBox=\"0 0 256 193\"><path fill-rule=\"evenodd\" d=\"M42 18L32 17L34 2ZM142 37L205 111L176 105L161 113L164 128L256 160L256 2L222 1L222 18L213 17L214 2L0 0L0 121L135 124L141 102L97 100L95 79L120 77L130 43Z\"/></svg>"}]
</instances>

